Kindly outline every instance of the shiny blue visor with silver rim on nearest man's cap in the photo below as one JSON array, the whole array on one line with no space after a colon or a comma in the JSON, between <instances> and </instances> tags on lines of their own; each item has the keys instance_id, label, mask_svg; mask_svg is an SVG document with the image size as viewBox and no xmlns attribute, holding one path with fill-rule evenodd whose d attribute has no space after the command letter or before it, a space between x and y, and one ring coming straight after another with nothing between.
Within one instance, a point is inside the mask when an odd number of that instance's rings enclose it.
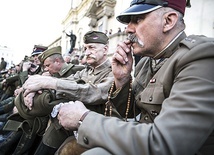
<instances>
[{"instance_id":1,"label":"shiny blue visor with silver rim on nearest man's cap","mask_svg":"<svg viewBox=\"0 0 214 155\"><path fill-rule=\"evenodd\" d=\"M160 5L149 4L132 5L130 8L126 9L119 16L117 16L116 19L123 24L128 24L131 21L131 16L148 13L161 7L162 6Z\"/></svg>"}]
</instances>

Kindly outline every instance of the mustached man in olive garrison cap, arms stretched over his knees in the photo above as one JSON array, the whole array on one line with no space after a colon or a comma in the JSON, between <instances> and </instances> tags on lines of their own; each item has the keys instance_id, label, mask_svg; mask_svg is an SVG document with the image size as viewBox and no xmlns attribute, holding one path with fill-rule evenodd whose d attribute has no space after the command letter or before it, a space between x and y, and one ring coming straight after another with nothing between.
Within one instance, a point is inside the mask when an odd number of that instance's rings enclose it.
<instances>
[{"instance_id":1,"label":"mustached man in olive garrison cap, arms stretched over his knees","mask_svg":"<svg viewBox=\"0 0 214 155\"><path fill-rule=\"evenodd\" d=\"M104 103L107 101L108 90L113 82L111 63L107 56L108 37L102 32L90 31L84 35L84 48L86 61L89 64L87 68L65 79L31 76L23 86L24 94L40 89L54 89L58 98L81 100L91 110L104 114ZM30 103L28 106L33 108ZM56 118L52 118L52 123L44 134L43 144L36 154L56 151L65 138L73 136L73 132L65 131L61 125L55 123L56 121L58 122ZM64 134L62 131L65 131Z\"/></svg>"}]
</instances>

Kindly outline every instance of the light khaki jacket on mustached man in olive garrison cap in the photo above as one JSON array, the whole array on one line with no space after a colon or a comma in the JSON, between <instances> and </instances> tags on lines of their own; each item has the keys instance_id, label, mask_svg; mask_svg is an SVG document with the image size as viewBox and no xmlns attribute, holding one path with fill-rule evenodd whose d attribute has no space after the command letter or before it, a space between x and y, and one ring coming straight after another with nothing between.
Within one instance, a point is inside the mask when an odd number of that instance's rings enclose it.
<instances>
[{"instance_id":1,"label":"light khaki jacket on mustached man in olive garrison cap","mask_svg":"<svg viewBox=\"0 0 214 155\"><path fill-rule=\"evenodd\" d=\"M108 90L113 82L110 60L96 68L87 67L64 79L57 80L58 98L79 100L88 105L106 102Z\"/></svg>"}]
</instances>

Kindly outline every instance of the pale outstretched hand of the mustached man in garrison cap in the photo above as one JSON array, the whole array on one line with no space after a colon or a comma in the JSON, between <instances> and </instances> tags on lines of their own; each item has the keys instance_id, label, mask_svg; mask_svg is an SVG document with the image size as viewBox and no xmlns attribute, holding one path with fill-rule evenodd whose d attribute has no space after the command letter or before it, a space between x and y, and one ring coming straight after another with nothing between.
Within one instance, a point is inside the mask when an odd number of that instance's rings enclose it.
<instances>
[{"instance_id":1,"label":"pale outstretched hand of the mustached man in garrison cap","mask_svg":"<svg viewBox=\"0 0 214 155\"><path fill-rule=\"evenodd\" d=\"M50 76L33 75L23 84L24 96L30 92L36 92L42 89L56 89L56 78Z\"/></svg>"}]
</instances>

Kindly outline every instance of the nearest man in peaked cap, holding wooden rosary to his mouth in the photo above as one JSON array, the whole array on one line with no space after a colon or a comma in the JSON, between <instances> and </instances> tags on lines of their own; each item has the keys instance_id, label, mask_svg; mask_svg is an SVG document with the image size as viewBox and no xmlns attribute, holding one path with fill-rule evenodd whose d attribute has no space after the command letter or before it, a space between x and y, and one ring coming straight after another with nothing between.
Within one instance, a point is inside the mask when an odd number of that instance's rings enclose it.
<instances>
[{"instance_id":1,"label":"nearest man in peaked cap, holding wooden rosary to his mouth","mask_svg":"<svg viewBox=\"0 0 214 155\"><path fill-rule=\"evenodd\" d=\"M84 102L63 105L61 124L78 128L78 143L92 148L84 155L213 154L214 38L186 36L185 7L186 0L133 0L118 15L128 38L112 57L110 103L124 118L139 117L127 123L85 113ZM134 78L133 54L141 56Z\"/></svg>"}]
</instances>

